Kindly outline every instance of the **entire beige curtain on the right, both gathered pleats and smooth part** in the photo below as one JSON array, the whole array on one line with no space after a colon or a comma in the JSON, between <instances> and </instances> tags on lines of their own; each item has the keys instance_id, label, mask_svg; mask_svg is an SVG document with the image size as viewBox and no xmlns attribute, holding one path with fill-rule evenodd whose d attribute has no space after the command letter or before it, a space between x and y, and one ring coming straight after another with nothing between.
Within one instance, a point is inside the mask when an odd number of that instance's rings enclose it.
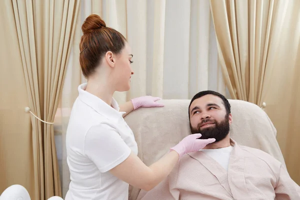
<instances>
[{"instance_id":1,"label":"entire beige curtain on the right, both gathered pleats and smooth part","mask_svg":"<svg viewBox=\"0 0 300 200\"><path fill-rule=\"evenodd\" d=\"M297 94L293 75L299 40L298 0L210 0L219 61L232 98L265 111L277 129L277 140L292 178L300 183L296 123L289 108ZM296 95L295 95L296 94ZM287 103L287 104L286 104ZM293 103L294 104L294 103ZM284 106L285 105L285 106ZM280 116L280 117L278 117ZM293 145L290 145L293 144ZM292 147L291 147L292 146Z\"/></svg>"}]
</instances>

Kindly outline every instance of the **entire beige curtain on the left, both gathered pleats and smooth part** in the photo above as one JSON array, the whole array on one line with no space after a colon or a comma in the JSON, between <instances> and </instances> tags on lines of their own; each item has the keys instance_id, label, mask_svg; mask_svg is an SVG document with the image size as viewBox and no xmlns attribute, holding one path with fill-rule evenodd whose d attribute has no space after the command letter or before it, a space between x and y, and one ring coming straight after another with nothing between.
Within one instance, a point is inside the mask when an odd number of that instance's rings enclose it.
<instances>
[{"instance_id":1,"label":"entire beige curtain on the left, both gathered pleats and smooth part","mask_svg":"<svg viewBox=\"0 0 300 200\"><path fill-rule=\"evenodd\" d=\"M4 124L5 132L0 133L1 138L2 136L5 138L5 140L1 139L1 142L5 143L4 147L1 146L3 154L15 152L11 148L25 148L24 151L18 151L15 156L1 156L0 162L10 163L9 166L11 166L8 168L6 165L4 168L7 179L2 182L2 177L5 176L1 176L1 188L8 187L11 183L21 184L28 189L31 199L47 199L53 195L61 195L53 125L41 122L30 113L23 115L24 107L30 107L32 113L45 121L54 120L71 50L79 0L12 0L11 2L5 0L1 3L4 5L4 7L1 5L5 14L3 18L6 19L2 24L10 27L10 32L4 31L4 38L10 37L13 42L18 41L18 48L9 44L2 46L5 49L5 51L1 50L2 55L8 57L2 59L4 64L1 64L1 71L2 67L4 69L7 67L5 64L10 64L12 74L22 71L22 74L18 74L17 78L20 79L17 83L6 84L7 92L23 95L22 89L27 91L26 98L22 98L22 109L17 110L20 117L11 119L15 125L19 121L21 124L26 122L22 125L26 128L19 130L12 127L13 125L9 127ZM17 55L16 60L10 57L9 52ZM4 70L4 72L7 71ZM12 77L10 73L4 73L4 75ZM14 77L12 79L15 81ZM20 88L14 90L16 84ZM13 101L6 103L14 104ZM7 115L11 116L11 113ZM30 121L28 121L29 115ZM14 132L15 129L18 132ZM7 133L10 134L7 135ZM24 138L24 142L20 145L17 143L15 145L12 143L11 147L6 145L12 139L11 137L19 136ZM26 161L22 163L17 157ZM28 173L28 175L18 175L18 173Z\"/></svg>"}]
</instances>

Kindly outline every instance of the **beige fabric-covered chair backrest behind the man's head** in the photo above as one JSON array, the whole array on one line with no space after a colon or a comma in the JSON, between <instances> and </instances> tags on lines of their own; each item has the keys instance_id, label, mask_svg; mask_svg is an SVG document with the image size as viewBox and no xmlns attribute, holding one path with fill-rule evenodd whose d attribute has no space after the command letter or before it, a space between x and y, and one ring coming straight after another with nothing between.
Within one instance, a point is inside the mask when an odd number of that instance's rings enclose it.
<instances>
[{"instance_id":1,"label":"beige fabric-covered chair backrest behind the man's head","mask_svg":"<svg viewBox=\"0 0 300 200\"><path fill-rule=\"evenodd\" d=\"M284 164L276 140L276 129L267 114L257 105L228 100L231 105L230 136L239 145L261 149ZM138 108L125 116L138 145L138 156L150 165L190 134L188 104L190 100L160 100L164 107ZM129 199L135 200L139 189L129 188Z\"/></svg>"}]
</instances>

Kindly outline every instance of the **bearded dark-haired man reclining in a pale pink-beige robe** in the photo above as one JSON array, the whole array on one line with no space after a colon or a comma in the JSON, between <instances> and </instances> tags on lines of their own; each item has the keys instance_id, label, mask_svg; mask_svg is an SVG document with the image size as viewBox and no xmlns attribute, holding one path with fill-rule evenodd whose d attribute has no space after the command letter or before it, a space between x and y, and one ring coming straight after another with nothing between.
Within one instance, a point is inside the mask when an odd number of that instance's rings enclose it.
<instances>
[{"instance_id":1,"label":"bearded dark-haired man reclining in a pale pink-beige robe","mask_svg":"<svg viewBox=\"0 0 300 200\"><path fill-rule=\"evenodd\" d=\"M137 199L300 199L300 187L266 152L230 138L230 104L220 93L201 91L188 107L191 133L215 138L182 156L168 177Z\"/></svg>"}]
</instances>

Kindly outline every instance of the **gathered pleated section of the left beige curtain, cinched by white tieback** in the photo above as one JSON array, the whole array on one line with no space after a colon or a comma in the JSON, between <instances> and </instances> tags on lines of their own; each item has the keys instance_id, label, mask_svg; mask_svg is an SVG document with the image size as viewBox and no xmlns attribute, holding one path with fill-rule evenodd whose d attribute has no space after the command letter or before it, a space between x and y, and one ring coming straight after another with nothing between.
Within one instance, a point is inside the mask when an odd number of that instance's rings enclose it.
<instances>
[{"instance_id":1,"label":"gathered pleated section of the left beige curtain, cinched by white tieback","mask_svg":"<svg viewBox=\"0 0 300 200\"><path fill-rule=\"evenodd\" d=\"M12 0L30 110L52 122L58 106L79 0ZM31 115L33 199L61 196L53 125Z\"/></svg>"}]
</instances>

